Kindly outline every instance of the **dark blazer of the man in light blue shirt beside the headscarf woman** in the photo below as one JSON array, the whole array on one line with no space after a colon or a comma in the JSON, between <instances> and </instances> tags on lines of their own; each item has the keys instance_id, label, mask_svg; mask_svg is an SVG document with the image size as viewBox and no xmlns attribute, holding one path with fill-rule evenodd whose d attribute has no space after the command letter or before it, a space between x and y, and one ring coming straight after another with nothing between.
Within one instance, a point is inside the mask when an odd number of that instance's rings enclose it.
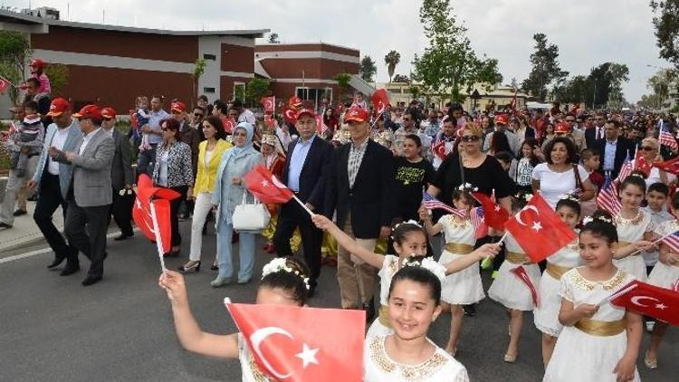
<instances>
[{"instance_id":1,"label":"dark blazer of the man in light blue shirt beside the headscarf woman","mask_svg":"<svg viewBox=\"0 0 679 382\"><path fill-rule=\"evenodd\" d=\"M282 182L288 184L288 173L290 172L290 160L292 150L294 150L299 139L294 139L288 145L288 157L282 170ZM311 148L307 153L307 158L301 167L300 189L298 196L304 203L313 205L315 211L324 211L325 186L327 183L328 167L332 158L332 145L327 140L316 136L311 142Z\"/></svg>"}]
</instances>

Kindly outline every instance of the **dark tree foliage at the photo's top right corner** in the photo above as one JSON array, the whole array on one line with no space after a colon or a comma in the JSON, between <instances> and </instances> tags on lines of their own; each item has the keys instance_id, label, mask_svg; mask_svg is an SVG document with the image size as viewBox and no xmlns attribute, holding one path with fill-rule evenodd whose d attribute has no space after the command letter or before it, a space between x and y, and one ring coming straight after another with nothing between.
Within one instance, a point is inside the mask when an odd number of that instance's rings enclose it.
<instances>
[{"instance_id":1,"label":"dark tree foliage at the photo's top right corner","mask_svg":"<svg viewBox=\"0 0 679 382\"><path fill-rule=\"evenodd\" d=\"M651 0L659 56L679 69L679 0Z\"/></svg>"}]
</instances>

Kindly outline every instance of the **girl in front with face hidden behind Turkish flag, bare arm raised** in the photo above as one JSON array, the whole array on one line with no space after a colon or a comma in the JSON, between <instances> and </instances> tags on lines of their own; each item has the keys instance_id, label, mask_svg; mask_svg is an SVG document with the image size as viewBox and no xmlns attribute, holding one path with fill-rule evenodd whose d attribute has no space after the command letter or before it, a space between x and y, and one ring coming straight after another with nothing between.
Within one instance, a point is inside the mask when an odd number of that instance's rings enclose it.
<instances>
[{"instance_id":1,"label":"girl in front with face hidden behind Turkish flag, bare arm raised","mask_svg":"<svg viewBox=\"0 0 679 382\"><path fill-rule=\"evenodd\" d=\"M258 304L304 306L309 292L309 270L293 258L279 257L264 265L262 282L257 288ZM167 291L172 304L177 337L184 349L208 357L238 358L244 382L273 381L257 367L241 333L217 335L198 326L186 297L186 284L181 273L167 270L158 284Z\"/></svg>"}]
</instances>

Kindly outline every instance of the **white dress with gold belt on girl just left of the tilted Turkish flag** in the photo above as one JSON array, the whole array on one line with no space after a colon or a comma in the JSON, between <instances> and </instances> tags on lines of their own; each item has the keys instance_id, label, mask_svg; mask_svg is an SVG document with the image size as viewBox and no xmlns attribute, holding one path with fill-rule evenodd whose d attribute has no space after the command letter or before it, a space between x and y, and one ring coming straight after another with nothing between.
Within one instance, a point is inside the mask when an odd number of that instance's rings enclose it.
<instances>
[{"instance_id":1,"label":"white dress with gold belt on girl just left of the tilted Turkish flag","mask_svg":"<svg viewBox=\"0 0 679 382\"><path fill-rule=\"evenodd\" d=\"M438 220L443 226L445 244L462 244L472 246L476 244L475 230L469 220L456 223L453 215L443 215ZM444 248L438 263L444 265L466 256L466 253L454 253ZM483 300L483 284L478 264L472 264L459 272L445 276L441 284L441 300L454 305L468 305Z\"/></svg>"}]
</instances>

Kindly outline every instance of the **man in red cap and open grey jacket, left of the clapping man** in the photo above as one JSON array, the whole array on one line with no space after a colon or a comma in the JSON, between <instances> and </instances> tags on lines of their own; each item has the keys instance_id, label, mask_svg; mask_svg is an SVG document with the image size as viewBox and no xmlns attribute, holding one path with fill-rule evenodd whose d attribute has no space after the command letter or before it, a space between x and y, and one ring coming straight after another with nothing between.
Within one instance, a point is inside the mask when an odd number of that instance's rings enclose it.
<instances>
[{"instance_id":1,"label":"man in red cap and open grey jacket, left of the clapping man","mask_svg":"<svg viewBox=\"0 0 679 382\"><path fill-rule=\"evenodd\" d=\"M61 264L69 255L78 253L74 246L66 244L62 234L54 226L52 215L61 205L63 220L66 220L66 193L71 184L72 167L59 163L49 154L49 148L72 151L81 141L82 133L78 128L78 121L72 118L71 104L68 100L57 98L50 104L47 113L53 123L47 127L43 143L43 151L38 158L33 179L29 180L26 188L37 187L38 203L33 211L33 220L43 233L47 244L54 251L54 260L47 268L54 268ZM62 270L62 276L76 272L74 268Z\"/></svg>"}]
</instances>

